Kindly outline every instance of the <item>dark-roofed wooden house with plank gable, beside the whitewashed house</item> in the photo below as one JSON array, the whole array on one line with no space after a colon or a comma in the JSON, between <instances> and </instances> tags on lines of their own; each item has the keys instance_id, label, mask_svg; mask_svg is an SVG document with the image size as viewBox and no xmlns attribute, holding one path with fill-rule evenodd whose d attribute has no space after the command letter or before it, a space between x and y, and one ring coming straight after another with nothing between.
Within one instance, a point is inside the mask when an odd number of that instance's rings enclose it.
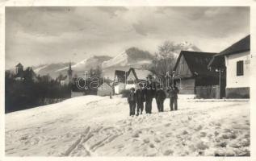
<instances>
[{"instance_id":1,"label":"dark-roofed wooden house with plank gable, beside the whitewashed house","mask_svg":"<svg viewBox=\"0 0 256 161\"><path fill-rule=\"evenodd\" d=\"M212 52L182 51L174 66L174 82L180 89L179 94L187 98L219 98L218 72L208 69Z\"/></svg>"}]
</instances>

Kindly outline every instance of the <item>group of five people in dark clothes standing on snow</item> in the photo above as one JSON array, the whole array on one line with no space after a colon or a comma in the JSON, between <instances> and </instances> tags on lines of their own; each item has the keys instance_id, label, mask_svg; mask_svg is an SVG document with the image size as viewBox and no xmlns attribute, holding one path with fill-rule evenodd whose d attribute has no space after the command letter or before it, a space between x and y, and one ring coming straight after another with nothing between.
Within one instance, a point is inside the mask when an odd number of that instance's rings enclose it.
<instances>
[{"instance_id":1,"label":"group of five people in dark clothes standing on snow","mask_svg":"<svg viewBox=\"0 0 256 161\"><path fill-rule=\"evenodd\" d=\"M145 113L151 114L153 97L156 99L158 112L163 112L166 93L170 97L170 110L172 111L178 109L178 88L176 86L170 87L165 92L161 85L156 85L156 83L153 82L152 76L149 75L146 79L147 81L145 86L139 84L138 89L130 89L130 93L128 95L130 116L142 114L144 110L144 102Z\"/></svg>"}]
</instances>

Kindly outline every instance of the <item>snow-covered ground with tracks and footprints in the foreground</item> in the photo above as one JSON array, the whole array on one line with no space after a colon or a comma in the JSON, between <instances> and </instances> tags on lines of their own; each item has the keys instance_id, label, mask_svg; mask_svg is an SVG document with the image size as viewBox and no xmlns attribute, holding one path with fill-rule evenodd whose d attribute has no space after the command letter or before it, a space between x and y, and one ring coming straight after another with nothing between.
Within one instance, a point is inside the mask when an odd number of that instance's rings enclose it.
<instances>
[{"instance_id":1,"label":"snow-covered ground with tracks and footprints in the foreground","mask_svg":"<svg viewBox=\"0 0 256 161\"><path fill-rule=\"evenodd\" d=\"M85 96L6 114L6 156L250 155L248 101L168 104L132 118L125 98Z\"/></svg>"}]
</instances>

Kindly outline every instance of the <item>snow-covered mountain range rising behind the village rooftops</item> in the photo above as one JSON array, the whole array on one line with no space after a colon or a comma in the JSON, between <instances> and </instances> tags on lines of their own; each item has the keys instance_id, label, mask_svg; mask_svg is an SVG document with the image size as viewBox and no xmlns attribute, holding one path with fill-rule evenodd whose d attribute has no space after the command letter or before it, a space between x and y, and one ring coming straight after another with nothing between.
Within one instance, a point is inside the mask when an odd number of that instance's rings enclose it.
<instances>
[{"instance_id":1,"label":"snow-covered mountain range rising behind the village rooftops","mask_svg":"<svg viewBox=\"0 0 256 161\"><path fill-rule=\"evenodd\" d=\"M175 43L174 56L178 57L178 54L182 50L200 52L198 47L195 47L192 43L182 42ZM143 51L137 47L130 47L124 52L117 54L114 57L111 56L91 56L78 63L72 64L72 70L74 74L82 74L90 68L96 68L97 66L103 68L103 75L112 78L115 70L128 70L128 68L141 68L145 65L151 64L153 55L147 51ZM59 64L44 64L38 67L34 67L34 71L37 74L45 75L49 74L53 78L56 78L59 74L66 74L69 67L69 63Z\"/></svg>"}]
</instances>

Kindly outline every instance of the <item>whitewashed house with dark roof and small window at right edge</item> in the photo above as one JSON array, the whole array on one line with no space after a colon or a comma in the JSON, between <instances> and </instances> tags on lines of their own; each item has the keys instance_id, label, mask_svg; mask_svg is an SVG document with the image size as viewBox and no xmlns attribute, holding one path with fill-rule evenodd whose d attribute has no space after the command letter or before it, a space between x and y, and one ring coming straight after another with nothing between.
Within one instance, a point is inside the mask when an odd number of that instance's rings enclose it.
<instances>
[{"instance_id":1,"label":"whitewashed house with dark roof and small window at right edge","mask_svg":"<svg viewBox=\"0 0 256 161\"><path fill-rule=\"evenodd\" d=\"M250 97L250 35L213 56L208 68L226 71L225 97Z\"/></svg>"}]
</instances>

